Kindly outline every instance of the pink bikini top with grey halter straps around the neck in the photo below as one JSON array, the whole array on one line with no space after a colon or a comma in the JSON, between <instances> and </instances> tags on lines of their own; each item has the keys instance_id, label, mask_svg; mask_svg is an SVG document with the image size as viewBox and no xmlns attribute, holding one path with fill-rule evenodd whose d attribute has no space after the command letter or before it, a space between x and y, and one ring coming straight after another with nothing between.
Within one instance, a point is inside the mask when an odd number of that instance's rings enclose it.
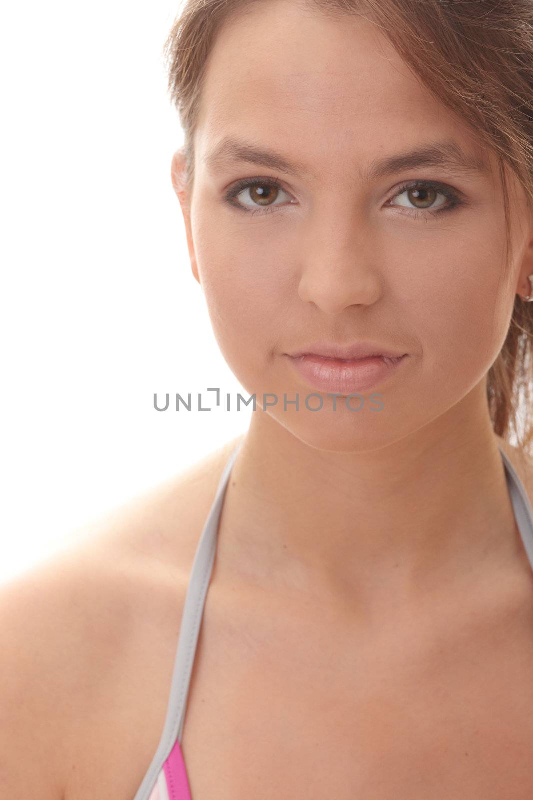
<instances>
[{"instance_id":1,"label":"pink bikini top with grey halter straps around the neck","mask_svg":"<svg viewBox=\"0 0 533 800\"><path fill-rule=\"evenodd\" d=\"M217 549L218 522L229 475L240 446L241 444L233 450L221 475L213 505L197 544L181 618L165 726L157 751L133 800L192 800L187 770L181 753L181 734L205 596ZM533 569L533 511L514 467L500 447L499 452L505 469L507 490L516 526Z\"/></svg>"}]
</instances>

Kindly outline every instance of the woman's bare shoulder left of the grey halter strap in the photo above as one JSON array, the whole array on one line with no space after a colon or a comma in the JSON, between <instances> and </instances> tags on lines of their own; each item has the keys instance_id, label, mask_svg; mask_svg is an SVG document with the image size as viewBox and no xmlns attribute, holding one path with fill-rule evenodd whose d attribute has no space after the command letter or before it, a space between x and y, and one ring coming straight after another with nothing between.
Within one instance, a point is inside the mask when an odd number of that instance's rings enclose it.
<instances>
[{"instance_id":1,"label":"woman's bare shoulder left of the grey halter strap","mask_svg":"<svg viewBox=\"0 0 533 800\"><path fill-rule=\"evenodd\" d=\"M0 734L0 794L22 800L31 784L42 787L42 794L32 788L36 800L82 798L85 785L91 797L104 796L90 768L94 759L108 784L114 772L131 774L131 763L142 770L167 698L163 691L141 710L131 698L154 679L169 685L197 538L235 446L237 439L0 586L0 716L10 726L10 735ZM123 711L111 713L117 707ZM115 739L123 742L123 731L138 727L140 713L143 736L126 753L115 750ZM121 771L124 758L129 766Z\"/></svg>"}]
</instances>

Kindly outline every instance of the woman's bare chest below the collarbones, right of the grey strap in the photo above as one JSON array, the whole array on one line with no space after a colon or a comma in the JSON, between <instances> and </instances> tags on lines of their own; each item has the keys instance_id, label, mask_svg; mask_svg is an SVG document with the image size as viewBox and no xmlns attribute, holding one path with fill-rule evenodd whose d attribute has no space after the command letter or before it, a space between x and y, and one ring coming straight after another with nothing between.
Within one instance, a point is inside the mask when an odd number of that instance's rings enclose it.
<instances>
[{"instance_id":1,"label":"woman's bare chest below the collarbones, right of the grey strap","mask_svg":"<svg viewBox=\"0 0 533 800\"><path fill-rule=\"evenodd\" d=\"M193 800L531 798L533 626L515 634L213 651L181 742Z\"/></svg>"}]
</instances>

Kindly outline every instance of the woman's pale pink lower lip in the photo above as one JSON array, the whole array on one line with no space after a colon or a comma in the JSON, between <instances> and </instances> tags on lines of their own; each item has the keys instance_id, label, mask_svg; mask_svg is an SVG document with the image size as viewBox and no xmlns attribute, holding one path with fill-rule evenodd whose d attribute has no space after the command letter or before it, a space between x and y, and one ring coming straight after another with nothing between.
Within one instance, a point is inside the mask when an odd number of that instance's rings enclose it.
<instances>
[{"instance_id":1,"label":"woman's pale pink lower lip","mask_svg":"<svg viewBox=\"0 0 533 800\"><path fill-rule=\"evenodd\" d=\"M351 360L324 358L316 354L287 356L305 382L332 394L355 394L378 386L408 360L408 354Z\"/></svg>"}]
</instances>

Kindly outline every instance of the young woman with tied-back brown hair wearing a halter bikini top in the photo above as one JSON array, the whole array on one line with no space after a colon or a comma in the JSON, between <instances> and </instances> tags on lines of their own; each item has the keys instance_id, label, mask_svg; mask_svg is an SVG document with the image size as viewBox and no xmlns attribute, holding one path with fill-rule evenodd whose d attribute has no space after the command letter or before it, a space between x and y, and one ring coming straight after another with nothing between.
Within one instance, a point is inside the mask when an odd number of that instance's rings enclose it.
<instances>
[{"instance_id":1,"label":"young woman with tied-back brown hair wearing a halter bikini top","mask_svg":"<svg viewBox=\"0 0 533 800\"><path fill-rule=\"evenodd\" d=\"M167 54L257 407L3 591L0 794L527 800L533 6L189 0Z\"/></svg>"}]
</instances>

